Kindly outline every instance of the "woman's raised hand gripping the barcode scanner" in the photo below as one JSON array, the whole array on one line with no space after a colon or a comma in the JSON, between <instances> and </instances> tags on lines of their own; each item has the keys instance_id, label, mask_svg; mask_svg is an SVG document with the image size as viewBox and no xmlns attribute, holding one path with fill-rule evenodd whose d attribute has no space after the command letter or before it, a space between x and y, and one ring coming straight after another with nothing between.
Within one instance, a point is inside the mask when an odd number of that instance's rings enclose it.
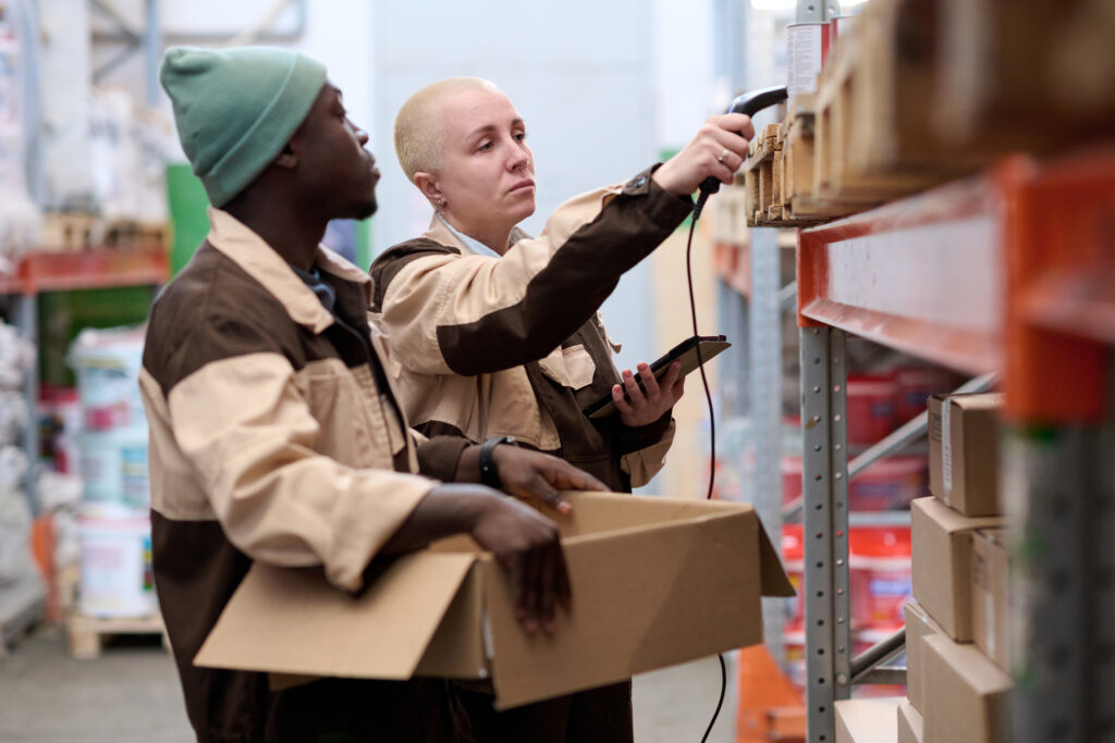
<instances>
[{"instance_id":1,"label":"woman's raised hand gripping the barcode scanner","mask_svg":"<svg viewBox=\"0 0 1115 743\"><path fill-rule=\"evenodd\" d=\"M709 176L720 183L731 183L736 170L747 159L747 143L754 136L755 126L749 116L711 116L697 136L655 170L651 178L675 196L688 196Z\"/></svg>"}]
</instances>

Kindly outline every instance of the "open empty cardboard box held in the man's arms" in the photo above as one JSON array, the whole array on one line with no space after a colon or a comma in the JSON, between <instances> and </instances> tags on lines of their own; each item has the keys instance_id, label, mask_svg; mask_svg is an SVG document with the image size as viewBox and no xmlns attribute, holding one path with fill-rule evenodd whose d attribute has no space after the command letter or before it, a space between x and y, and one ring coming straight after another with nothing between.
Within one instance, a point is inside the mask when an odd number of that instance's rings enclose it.
<instances>
[{"instance_id":1,"label":"open empty cardboard box held in the man's arms","mask_svg":"<svg viewBox=\"0 0 1115 743\"><path fill-rule=\"evenodd\" d=\"M515 619L503 569L467 537L390 561L353 597L320 570L256 564L195 658L280 675L491 677L507 708L763 642L760 596L794 590L744 504L569 493L573 609Z\"/></svg>"}]
</instances>

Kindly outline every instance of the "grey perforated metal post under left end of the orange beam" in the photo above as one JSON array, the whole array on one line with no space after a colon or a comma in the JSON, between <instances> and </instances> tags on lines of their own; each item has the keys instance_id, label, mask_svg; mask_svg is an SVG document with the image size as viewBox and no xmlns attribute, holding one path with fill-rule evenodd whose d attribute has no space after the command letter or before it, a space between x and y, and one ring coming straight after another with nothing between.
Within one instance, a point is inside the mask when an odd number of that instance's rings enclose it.
<instances>
[{"instance_id":1,"label":"grey perforated metal post under left end of the orange beam","mask_svg":"<svg viewBox=\"0 0 1115 743\"><path fill-rule=\"evenodd\" d=\"M851 693L844 339L828 327L801 330L809 743L836 740L833 704Z\"/></svg>"}]
</instances>

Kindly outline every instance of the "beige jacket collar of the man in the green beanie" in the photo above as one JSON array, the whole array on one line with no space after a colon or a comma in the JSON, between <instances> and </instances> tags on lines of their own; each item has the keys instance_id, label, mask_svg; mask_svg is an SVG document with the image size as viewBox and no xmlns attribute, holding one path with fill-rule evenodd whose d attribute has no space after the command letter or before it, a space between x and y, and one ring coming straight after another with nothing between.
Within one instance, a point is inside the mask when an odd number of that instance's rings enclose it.
<instances>
[{"instance_id":1,"label":"beige jacket collar of the man in the green beanie","mask_svg":"<svg viewBox=\"0 0 1115 743\"><path fill-rule=\"evenodd\" d=\"M260 282L287 310L290 319L314 333L321 333L333 324L333 315L326 310L313 291L294 273L282 256L274 252L262 237L252 232L234 216L214 207L209 208L210 245L227 256L233 263ZM363 292L365 304L371 297L371 280L368 274L337 255L323 245L318 246L313 261L322 273L337 276L356 284Z\"/></svg>"}]
</instances>

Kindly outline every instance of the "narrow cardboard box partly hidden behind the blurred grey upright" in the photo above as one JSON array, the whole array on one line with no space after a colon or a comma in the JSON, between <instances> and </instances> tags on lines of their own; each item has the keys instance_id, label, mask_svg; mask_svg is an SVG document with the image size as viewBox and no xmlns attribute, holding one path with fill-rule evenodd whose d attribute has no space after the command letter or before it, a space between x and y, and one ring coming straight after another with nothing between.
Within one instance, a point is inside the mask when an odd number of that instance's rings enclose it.
<instances>
[{"instance_id":1,"label":"narrow cardboard box partly hidden behind the blurred grey upright","mask_svg":"<svg viewBox=\"0 0 1115 743\"><path fill-rule=\"evenodd\" d=\"M1005 529L972 535L972 636L976 647L1010 672L1010 559Z\"/></svg>"}]
</instances>

